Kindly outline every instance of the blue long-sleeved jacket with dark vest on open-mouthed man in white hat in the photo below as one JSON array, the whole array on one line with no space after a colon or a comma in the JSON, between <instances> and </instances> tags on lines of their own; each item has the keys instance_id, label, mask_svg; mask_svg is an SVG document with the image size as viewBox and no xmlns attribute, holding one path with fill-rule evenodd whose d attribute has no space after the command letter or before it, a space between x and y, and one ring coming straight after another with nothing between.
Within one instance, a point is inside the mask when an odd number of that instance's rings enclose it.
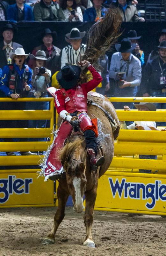
<instances>
[{"instance_id":1,"label":"blue long-sleeved jacket with dark vest on open-mouthed man in white hat","mask_svg":"<svg viewBox=\"0 0 166 256\"><path fill-rule=\"evenodd\" d=\"M11 64L10 64L11 65ZM20 70L18 68L18 66L16 64L14 64L14 69L16 70L18 77L16 77L16 81L15 82L15 91L13 92L9 87L9 80L10 80L10 69L9 69L9 65L4 66L3 71L2 71L2 77L1 77L1 83L0 83L0 90L5 94L5 96L10 97L10 95L12 93L22 93L23 92L23 73L24 71L26 72L26 83L30 86L30 89L32 88L32 81L31 81L31 77L32 77L32 71L31 68L29 68L27 65L24 65L23 68ZM25 79L24 79L25 81Z\"/></svg>"}]
</instances>

